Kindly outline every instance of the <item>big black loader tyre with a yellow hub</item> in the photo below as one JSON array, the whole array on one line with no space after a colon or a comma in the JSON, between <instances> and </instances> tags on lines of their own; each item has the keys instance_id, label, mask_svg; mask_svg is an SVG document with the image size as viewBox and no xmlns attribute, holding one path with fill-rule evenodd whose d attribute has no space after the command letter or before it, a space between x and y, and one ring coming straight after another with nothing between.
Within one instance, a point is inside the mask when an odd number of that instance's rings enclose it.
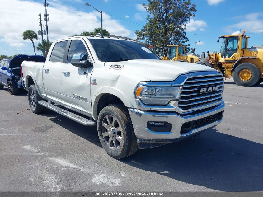
<instances>
[{"instance_id":1,"label":"big black loader tyre with a yellow hub","mask_svg":"<svg viewBox=\"0 0 263 197\"><path fill-rule=\"evenodd\" d=\"M233 79L239 86L254 86L260 79L260 72L254 64L242 63L235 68Z\"/></svg>"}]
</instances>

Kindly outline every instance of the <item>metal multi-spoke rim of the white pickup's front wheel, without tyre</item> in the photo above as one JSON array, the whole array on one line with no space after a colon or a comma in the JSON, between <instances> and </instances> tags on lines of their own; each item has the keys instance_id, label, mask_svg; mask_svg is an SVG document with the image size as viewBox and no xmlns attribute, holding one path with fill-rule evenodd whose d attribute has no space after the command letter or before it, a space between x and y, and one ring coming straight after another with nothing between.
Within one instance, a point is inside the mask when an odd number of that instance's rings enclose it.
<instances>
[{"instance_id":1,"label":"metal multi-spoke rim of the white pickup's front wheel, without tyre","mask_svg":"<svg viewBox=\"0 0 263 197\"><path fill-rule=\"evenodd\" d=\"M101 131L106 145L118 150L123 143L123 131L118 120L112 115L106 115L102 121Z\"/></svg>"}]
</instances>

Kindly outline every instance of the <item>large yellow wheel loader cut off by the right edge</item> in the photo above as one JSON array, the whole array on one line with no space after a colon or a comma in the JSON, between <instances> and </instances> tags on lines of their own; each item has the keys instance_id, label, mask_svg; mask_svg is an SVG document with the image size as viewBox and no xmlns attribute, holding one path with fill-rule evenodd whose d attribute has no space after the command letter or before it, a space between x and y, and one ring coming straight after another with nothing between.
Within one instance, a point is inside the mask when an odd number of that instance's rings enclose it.
<instances>
[{"instance_id":1,"label":"large yellow wheel loader cut off by the right edge","mask_svg":"<svg viewBox=\"0 0 263 197\"><path fill-rule=\"evenodd\" d=\"M263 46L247 48L249 36L243 34L222 35L219 53L202 53L199 64L219 70L225 77L233 77L239 86L253 86L263 82Z\"/></svg>"}]
</instances>

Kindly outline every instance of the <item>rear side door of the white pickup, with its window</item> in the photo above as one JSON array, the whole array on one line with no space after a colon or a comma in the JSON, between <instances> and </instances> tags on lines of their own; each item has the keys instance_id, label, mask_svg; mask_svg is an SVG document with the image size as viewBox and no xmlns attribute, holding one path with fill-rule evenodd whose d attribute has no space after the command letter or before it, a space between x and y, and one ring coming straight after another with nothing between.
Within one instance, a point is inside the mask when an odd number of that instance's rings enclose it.
<instances>
[{"instance_id":1,"label":"rear side door of the white pickup, with its window","mask_svg":"<svg viewBox=\"0 0 263 197\"><path fill-rule=\"evenodd\" d=\"M55 43L43 67L43 83L47 97L63 103L61 75L68 40Z\"/></svg>"}]
</instances>

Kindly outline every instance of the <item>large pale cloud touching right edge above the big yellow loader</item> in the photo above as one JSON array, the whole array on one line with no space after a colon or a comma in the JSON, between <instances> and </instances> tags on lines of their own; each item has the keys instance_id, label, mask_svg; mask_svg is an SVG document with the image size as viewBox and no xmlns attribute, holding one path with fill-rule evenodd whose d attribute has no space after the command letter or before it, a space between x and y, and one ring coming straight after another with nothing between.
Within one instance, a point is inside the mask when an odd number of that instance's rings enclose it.
<instances>
[{"instance_id":1,"label":"large pale cloud touching right edge above the big yellow loader","mask_svg":"<svg viewBox=\"0 0 263 197\"><path fill-rule=\"evenodd\" d=\"M247 30L249 33L263 32L262 12L247 14L240 20L241 22L224 27L224 30L229 33L235 31L236 29Z\"/></svg>"}]
</instances>

